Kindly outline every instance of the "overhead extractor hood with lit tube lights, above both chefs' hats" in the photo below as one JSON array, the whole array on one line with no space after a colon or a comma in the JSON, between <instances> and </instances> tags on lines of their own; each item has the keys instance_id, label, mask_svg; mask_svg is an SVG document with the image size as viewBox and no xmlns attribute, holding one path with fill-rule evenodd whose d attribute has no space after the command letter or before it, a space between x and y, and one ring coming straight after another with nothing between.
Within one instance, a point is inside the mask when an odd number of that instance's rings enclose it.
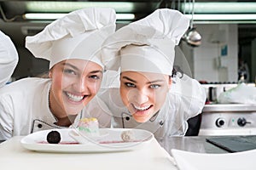
<instances>
[{"instance_id":1,"label":"overhead extractor hood with lit tube lights, above both chefs' hats","mask_svg":"<svg viewBox=\"0 0 256 170\"><path fill-rule=\"evenodd\" d=\"M0 17L5 22L51 22L79 8L110 7L116 10L117 22L129 23L151 14L157 8L175 8L191 18L191 8L195 6L195 23L256 23L256 1L196 0L193 2L192 4L192 0L0 0Z\"/></svg>"}]
</instances>

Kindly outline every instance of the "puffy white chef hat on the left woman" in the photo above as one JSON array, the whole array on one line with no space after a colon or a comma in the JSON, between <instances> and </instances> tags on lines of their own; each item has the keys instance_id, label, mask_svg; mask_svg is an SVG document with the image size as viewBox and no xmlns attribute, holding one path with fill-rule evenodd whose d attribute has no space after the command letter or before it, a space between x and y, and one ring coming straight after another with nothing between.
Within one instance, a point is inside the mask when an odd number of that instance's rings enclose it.
<instances>
[{"instance_id":1,"label":"puffy white chef hat on the left woman","mask_svg":"<svg viewBox=\"0 0 256 170\"><path fill-rule=\"evenodd\" d=\"M65 59L85 59L102 65L102 42L115 31L113 8L83 8L55 20L43 31L26 37L26 48L49 68Z\"/></svg>"}]
</instances>

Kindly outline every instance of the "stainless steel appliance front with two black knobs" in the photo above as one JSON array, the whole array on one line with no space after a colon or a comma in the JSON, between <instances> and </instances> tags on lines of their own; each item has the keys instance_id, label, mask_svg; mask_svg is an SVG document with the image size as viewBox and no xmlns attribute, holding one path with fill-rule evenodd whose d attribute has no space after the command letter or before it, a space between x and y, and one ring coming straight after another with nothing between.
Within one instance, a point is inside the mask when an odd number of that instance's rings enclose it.
<instances>
[{"instance_id":1,"label":"stainless steel appliance front with two black knobs","mask_svg":"<svg viewBox=\"0 0 256 170\"><path fill-rule=\"evenodd\" d=\"M256 105L205 105L199 135L256 135Z\"/></svg>"}]
</instances>

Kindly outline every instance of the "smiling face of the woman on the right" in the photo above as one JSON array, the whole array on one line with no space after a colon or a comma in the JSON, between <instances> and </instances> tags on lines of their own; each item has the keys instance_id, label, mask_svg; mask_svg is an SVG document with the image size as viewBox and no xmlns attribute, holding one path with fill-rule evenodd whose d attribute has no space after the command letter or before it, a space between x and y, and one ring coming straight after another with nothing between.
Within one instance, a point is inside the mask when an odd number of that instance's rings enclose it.
<instances>
[{"instance_id":1,"label":"smiling face of the woman on the right","mask_svg":"<svg viewBox=\"0 0 256 170\"><path fill-rule=\"evenodd\" d=\"M171 85L163 74L124 71L120 76L121 98L137 122L147 122L160 110Z\"/></svg>"}]
</instances>

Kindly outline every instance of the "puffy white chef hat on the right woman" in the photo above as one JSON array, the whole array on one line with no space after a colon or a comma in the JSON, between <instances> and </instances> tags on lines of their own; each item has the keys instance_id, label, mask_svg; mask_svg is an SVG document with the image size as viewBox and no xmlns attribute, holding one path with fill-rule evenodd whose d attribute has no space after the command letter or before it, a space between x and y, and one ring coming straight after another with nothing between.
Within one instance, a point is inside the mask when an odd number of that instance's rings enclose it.
<instances>
[{"instance_id":1,"label":"puffy white chef hat on the right woman","mask_svg":"<svg viewBox=\"0 0 256 170\"><path fill-rule=\"evenodd\" d=\"M172 75L177 45L189 27L189 18L177 10L162 8L124 26L102 46L108 70L146 71Z\"/></svg>"}]
</instances>

